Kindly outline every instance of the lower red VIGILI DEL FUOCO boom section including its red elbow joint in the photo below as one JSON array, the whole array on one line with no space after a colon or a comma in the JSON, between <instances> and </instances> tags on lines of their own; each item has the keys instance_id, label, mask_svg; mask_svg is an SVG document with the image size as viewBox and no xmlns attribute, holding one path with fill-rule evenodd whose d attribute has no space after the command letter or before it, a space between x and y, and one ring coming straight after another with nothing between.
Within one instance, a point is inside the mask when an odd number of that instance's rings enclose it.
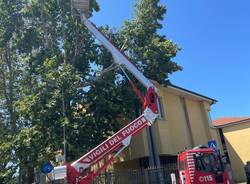
<instances>
[{"instance_id":1,"label":"lower red VIGILI DEL FUOCO boom section including its red elbow joint","mask_svg":"<svg viewBox=\"0 0 250 184\"><path fill-rule=\"evenodd\" d=\"M67 181L70 184L90 184L130 144L133 136L154 123L158 116L156 100L157 95L154 88L150 87L145 96L148 106L144 109L143 114L75 162L68 164ZM110 156L109 160L98 171L95 173L90 171L92 165L107 156ZM78 178L80 178L79 182L77 182Z\"/></svg>"}]
</instances>

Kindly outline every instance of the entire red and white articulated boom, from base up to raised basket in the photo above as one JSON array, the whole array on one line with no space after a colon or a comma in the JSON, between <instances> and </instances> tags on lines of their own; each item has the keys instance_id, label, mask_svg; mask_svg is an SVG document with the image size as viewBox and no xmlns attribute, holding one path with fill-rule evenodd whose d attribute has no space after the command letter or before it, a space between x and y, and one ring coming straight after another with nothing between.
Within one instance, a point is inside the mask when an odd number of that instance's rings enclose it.
<instances>
[{"instance_id":1,"label":"entire red and white articulated boom, from base up to raised basket","mask_svg":"<svg viewBox=\"0 0 250 184\"><path fill-rule=\"evenodd\" d=\"M143 103L143 113L134 121L126 125L113 136L103 143L83 155L73 163L66 164L66 180L70 184L90 184L98 177L126 148L131 142L131 138L146 127L151 126L158 116L157 106L157 88L146 78L143 73L129 60L129 58L90 22L88 19L89 0L72 0L72 8L80 18L86 28L95 36L95 38L112 54L115 64L120 67L127 77L133 90ZM143 96L136 85L126 74L129 71L145 88L146 94ZM95 165L104 158L108 160L97 171L91 171L91 166Z\"/></svg>"}]
</instances>

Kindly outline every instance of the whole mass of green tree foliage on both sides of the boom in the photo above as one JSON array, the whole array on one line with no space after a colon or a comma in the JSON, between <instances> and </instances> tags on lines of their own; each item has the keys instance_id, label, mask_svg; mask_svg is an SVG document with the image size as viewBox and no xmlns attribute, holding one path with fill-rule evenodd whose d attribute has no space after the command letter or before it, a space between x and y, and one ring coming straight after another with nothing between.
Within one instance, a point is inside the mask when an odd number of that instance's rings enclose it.
<instances>
[{"instance_id":1,"label":"whole mass of green tree foliage on both sides of the boom","mask_svg":"<svg viewBox=\"0 0 250 184\"><path fill-rule=\"evenodd\" d=\"M0 183L32 183L43 162L56 165L64 126L72 161L138 115L120 70L92 80L113 58L70 11L70 1L0 0ZM121 30L101 28L162 84L181 69L172 61L177 45L158 34L165 12L158 0L138 0Z\"/></svg>"}]
</instances>

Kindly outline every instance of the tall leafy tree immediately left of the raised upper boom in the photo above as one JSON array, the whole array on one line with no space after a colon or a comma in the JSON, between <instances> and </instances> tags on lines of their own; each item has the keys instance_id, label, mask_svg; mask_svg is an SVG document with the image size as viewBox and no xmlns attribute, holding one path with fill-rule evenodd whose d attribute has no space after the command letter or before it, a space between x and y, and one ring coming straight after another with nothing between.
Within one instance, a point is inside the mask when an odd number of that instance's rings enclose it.
<instances>
[{"instance_id":1,"label":"tall leafy tree immediately left of the raised upper boom","mask_svg":"<svg viewBox=\"0 0 250 184\"><path fill-rule=\"evenodd\" d=\"M16 103L22 130L14 143L21 182L31 183L41 163L55 162L55 153L62 150L63 126L77 150L75 138L80 135L75 114L83 95L79 88L96 57L96 46L71 16L70 4L32 1L25 6L23 18L26 25L18 40L23 76ZM68 142L69 159L75 155L70 148Z\"/></svg>"}]
</instances>

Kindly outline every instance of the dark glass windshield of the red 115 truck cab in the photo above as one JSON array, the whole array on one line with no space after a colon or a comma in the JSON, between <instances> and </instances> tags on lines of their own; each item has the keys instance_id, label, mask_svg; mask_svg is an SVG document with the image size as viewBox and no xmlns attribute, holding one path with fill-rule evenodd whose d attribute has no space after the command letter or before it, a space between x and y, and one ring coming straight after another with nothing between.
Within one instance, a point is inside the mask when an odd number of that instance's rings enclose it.
<instances>
[{"instance_id":1,"label":"dark glass windshield of the red 115 truck cab","mask_svg":"<svg viewBox=\"0 0 250 184\"><path fill-rule=\"evenodd\" d=\"M219 156L214 153L200 153L195 155L195 166L196 170L202 172L218 172L223 170Z\"/></svg>"}]
</instances>

